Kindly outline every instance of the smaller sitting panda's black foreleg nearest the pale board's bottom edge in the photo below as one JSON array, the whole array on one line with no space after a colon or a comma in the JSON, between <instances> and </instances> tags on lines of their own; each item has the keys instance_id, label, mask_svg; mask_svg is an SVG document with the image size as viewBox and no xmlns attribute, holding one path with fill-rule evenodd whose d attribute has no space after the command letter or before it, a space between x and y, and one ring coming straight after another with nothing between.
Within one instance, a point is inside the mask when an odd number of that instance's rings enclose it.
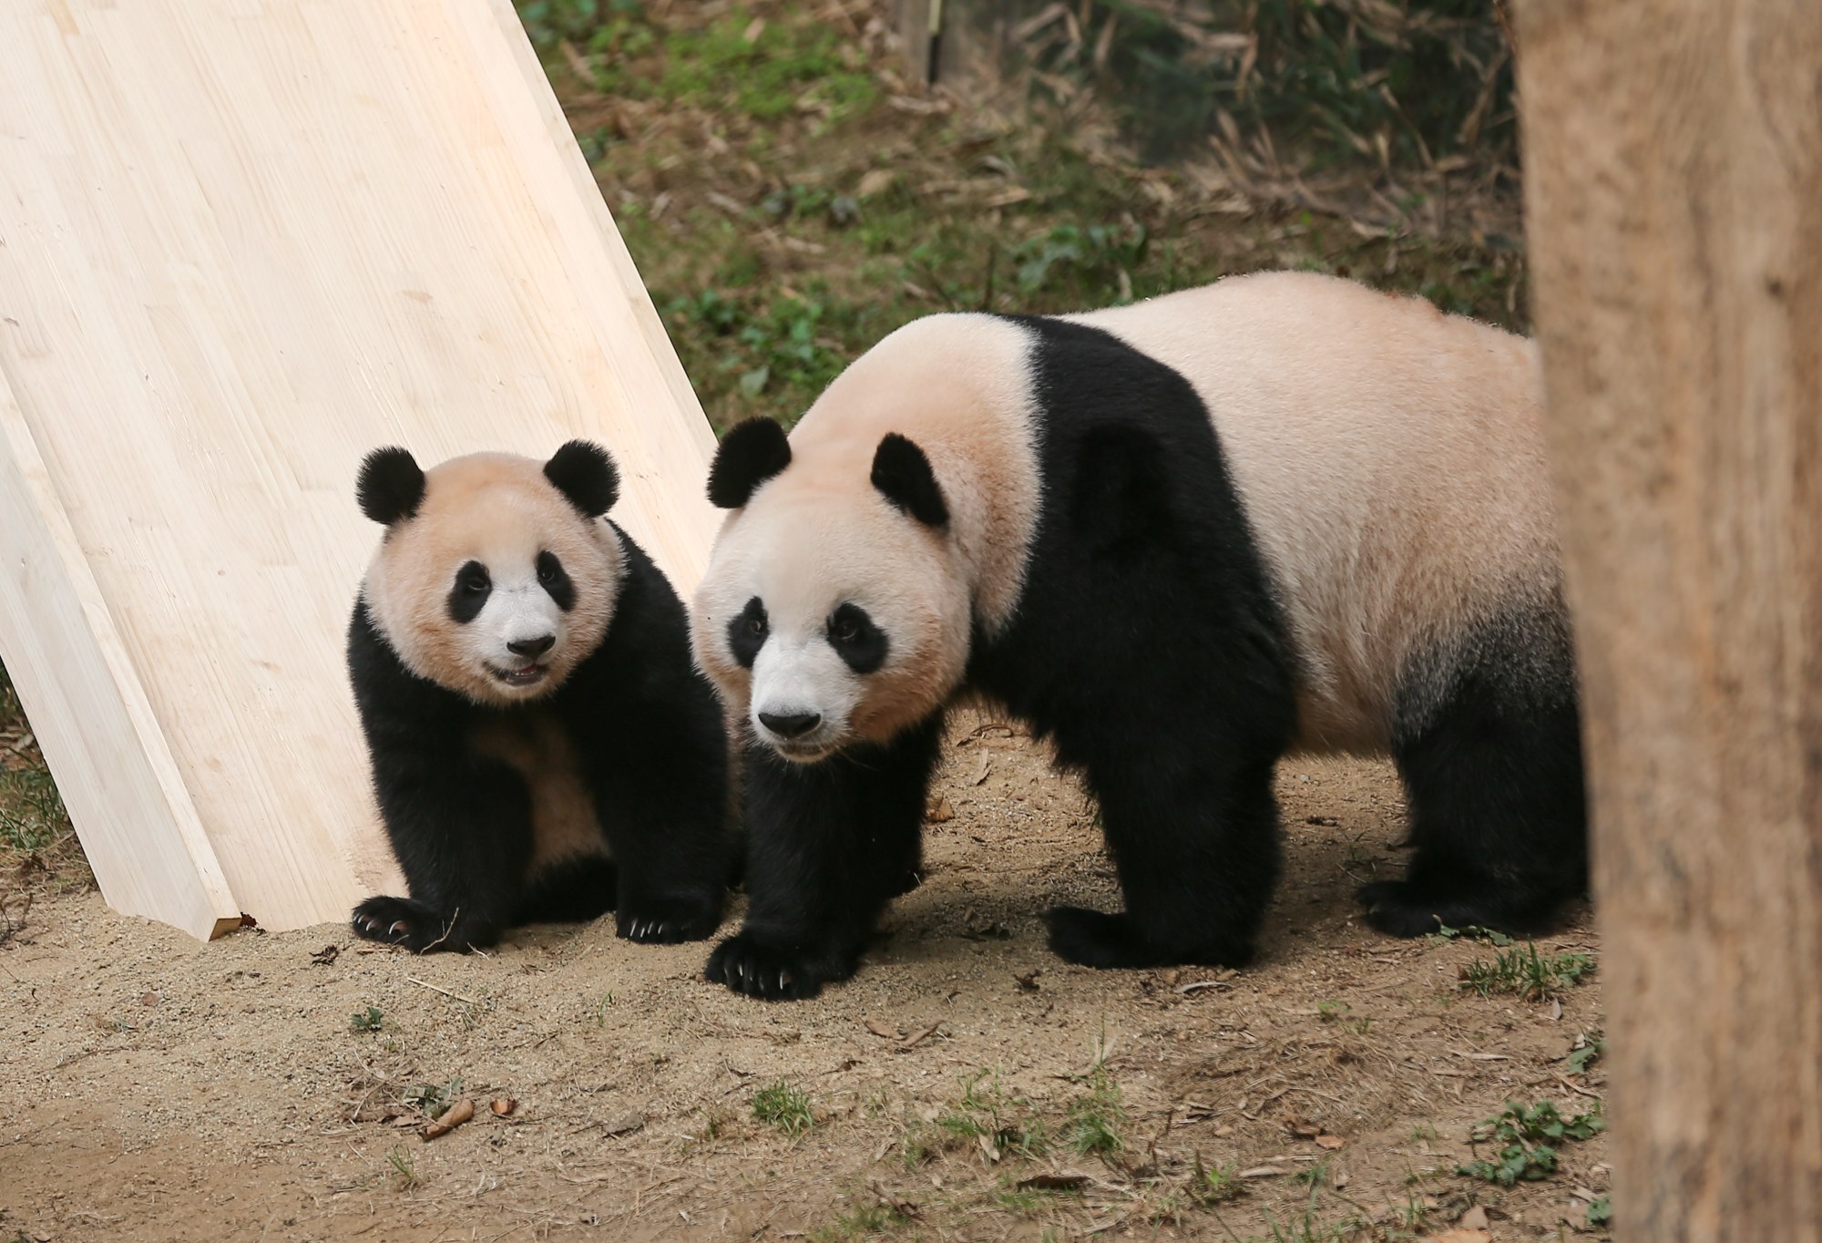
<instances>
[{"instance_id":1,"label":"smaller sitting panda's black foreleg nearest the pale board's bottom edge","mask_svg":"<svg viewBox=\"0 0 1822 1243\"><path fill-rule=\"evenodd\" d=\"M372 897L353 931L414 953L485 950L510 926L530 858L525 782L492 762L383 751L381 815L410 899Z\"/></svg>"}]
</instances>

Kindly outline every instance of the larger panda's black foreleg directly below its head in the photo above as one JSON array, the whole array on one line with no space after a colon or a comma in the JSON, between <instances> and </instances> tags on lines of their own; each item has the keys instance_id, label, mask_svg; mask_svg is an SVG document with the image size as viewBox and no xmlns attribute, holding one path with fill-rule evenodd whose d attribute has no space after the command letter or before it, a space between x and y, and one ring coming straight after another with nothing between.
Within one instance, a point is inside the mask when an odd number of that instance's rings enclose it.
<instances>
[{"instance_id":1,"label":"larger panda's black foreleg directly below its head","mask_svg":"<svg viewBox=\"0 0 1822 1243\"><path fill-rule=\"evenodd\" d=\"M765 1001L844 981L885 904L918 873L942 718L818 764L751 747L743 771L747 919L707 977Z\"/></svg>"}]
</instances>

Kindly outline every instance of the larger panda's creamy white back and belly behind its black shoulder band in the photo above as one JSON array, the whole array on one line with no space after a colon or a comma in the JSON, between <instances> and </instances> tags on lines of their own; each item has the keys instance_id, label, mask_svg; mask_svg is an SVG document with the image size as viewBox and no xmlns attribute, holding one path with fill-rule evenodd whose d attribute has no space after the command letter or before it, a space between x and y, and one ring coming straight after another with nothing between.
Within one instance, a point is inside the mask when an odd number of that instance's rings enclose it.
<instances>
[{"instance_id":1,"label":"larger panda's creamy white back and belly behind its black shoulder band","mask_svg":"<svg viewBox=\"0 0 1822 1243\"><path fill-rule=\"evenodd\" d=\"M1068 319L1170 365L1208 405L1288 614L1305 749L1383 753L1414 652L1552 607L1530 341L1290 272Z\"/></svg>"}]
</instances>

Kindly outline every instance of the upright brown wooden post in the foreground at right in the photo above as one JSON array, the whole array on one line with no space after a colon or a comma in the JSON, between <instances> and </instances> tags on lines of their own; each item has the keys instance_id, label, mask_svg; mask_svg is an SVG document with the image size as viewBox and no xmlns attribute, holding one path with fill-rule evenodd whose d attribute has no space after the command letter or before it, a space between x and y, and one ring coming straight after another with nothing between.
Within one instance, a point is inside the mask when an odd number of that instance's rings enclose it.
<instances>
[{"instance_id":1,"label":"upright brown wooden post in the foreground at right","mask_svg":"<svg viewBox=\"0 0 1822 1243\"><path fill-rule=\"evenodd\" d=\"M1620 1238L1822 1238L1822 4L1525 0Z\"/></svg>"}]
</instances>

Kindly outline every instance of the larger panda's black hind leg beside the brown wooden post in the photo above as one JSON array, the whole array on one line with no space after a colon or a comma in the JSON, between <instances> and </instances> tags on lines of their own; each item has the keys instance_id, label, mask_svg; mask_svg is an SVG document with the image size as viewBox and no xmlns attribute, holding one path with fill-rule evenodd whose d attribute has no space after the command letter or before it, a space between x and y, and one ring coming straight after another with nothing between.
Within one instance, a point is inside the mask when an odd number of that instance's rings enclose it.
<instances>
[{"instance_id":1,"label":"larger panda's black hind leg beside the brown wooden post","mask_svg":"<svg viewBox=\"0 0 1822 1243\"><path fill-rule=\"evenodd\" d=\"M1572 680L1520 687L1469 671L1421 729L1394 744L1416 855L1403 880L1359 891L1394 937L1479 926L1547 930L1587 891L1587 804Z\"/></svg>"}]
</instances>

